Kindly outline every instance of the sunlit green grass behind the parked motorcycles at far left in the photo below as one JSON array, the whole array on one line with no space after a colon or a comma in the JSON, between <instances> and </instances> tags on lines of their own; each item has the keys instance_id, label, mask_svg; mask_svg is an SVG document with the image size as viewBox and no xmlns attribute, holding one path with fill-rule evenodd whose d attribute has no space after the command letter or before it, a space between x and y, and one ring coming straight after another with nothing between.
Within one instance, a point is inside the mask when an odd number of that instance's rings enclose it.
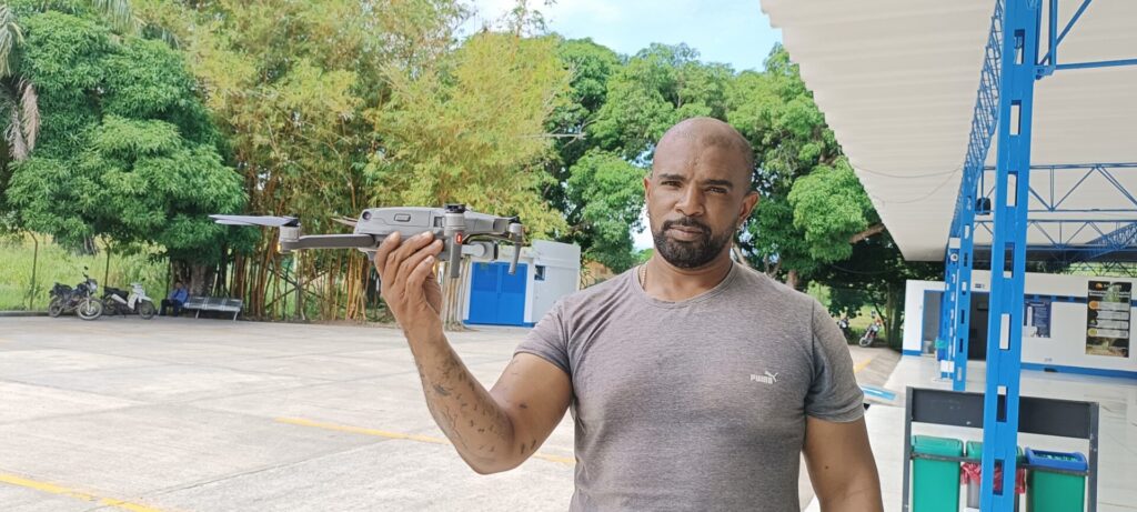
<instances>
[{"instance_id":1,"label":"sunlit green grass behind the parked motorcycles at far left","mask_svg":"<svg viewBox=\"0 0 1137 512\"><path fill-rule=\"evenodd\" d=\"M93 256L76 255L51 242L48 237L39 238L39 257L35 240L31 236L0 239L0 311L45 311L50 297L48 291L55 282L74 287L83 280L83 267L99 282L101 288L110 283L115 288L130 289L132 282L140 282L147 294L157 302L166 291L164 261L152 254L111 255L107 282L107 253L100 248ZM35 282L32 282L33 261Z\"/></svg>"}]
</instances>

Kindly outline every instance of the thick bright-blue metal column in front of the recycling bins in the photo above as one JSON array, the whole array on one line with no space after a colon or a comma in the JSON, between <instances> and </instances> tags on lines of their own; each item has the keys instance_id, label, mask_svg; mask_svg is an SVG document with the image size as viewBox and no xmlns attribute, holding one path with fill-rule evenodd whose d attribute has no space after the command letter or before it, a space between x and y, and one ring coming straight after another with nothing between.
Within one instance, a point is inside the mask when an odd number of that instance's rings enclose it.
<instances>
[{"instance_id":1,"label":"thick bright-blue metal column in front of the recycling bins","mask_svg":"<svg viewBox=\"0 0 1137 512\"><path fill-rule=\"evenodd\" d=\"M1019 373L1022 368L1031 107L1041 22L1039 3L1039 0L1007 0L1003 17L995 240L991 243L987 389L984 397L984 512L1011 512L1016 499ZM1007 258L1011 259L1010 267ZM1003 485L998 494L994 486L996 465L1003 469Z\"/></svg>"}]
</instances>

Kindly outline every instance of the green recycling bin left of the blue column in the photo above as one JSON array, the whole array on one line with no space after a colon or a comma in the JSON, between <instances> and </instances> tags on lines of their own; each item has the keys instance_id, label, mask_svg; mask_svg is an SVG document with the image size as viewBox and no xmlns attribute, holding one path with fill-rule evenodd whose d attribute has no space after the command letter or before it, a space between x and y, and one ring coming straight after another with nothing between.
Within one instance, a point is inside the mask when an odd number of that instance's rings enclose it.
<instances>
[{"instance_id":1,"label":"green recycling bin left of the blue column","mask_svg":"<svg viewBox=\"0 0 1137 512\"><path fill-rule=\"evenodd\" d=\"M958 457L963 443L932 436L913 436L912 453ZM912 512L960 512L960 463L912 461Z\"/></svg>"}]
</instances>

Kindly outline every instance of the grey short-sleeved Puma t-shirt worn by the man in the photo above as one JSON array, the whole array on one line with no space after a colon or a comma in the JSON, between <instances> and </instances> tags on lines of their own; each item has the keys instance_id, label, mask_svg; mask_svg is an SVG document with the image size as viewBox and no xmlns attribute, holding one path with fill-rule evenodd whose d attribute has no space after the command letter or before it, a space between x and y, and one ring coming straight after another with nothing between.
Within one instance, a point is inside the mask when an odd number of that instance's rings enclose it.
<instances>
[{"instance_id":1,"label":"grey short-sleeved Puma t-shirt worn by the man","mask_svg":"<svg viewBox=\"0 0 1137 512\"><path fill-rule=\"evenodd\" d=\"M816 300L735 265L669 303L633 271L565 297L517 347L572 378L574 511L794 511L805 416L864 414Z\"/></svg>"}]
</instances>

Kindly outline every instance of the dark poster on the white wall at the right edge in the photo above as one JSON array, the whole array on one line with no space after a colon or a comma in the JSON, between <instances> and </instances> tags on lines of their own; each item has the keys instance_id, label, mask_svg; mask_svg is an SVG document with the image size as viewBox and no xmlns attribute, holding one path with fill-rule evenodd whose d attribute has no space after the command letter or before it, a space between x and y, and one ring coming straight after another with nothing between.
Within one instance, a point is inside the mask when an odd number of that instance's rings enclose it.
<instances>
[{"instance_id":1,"label":"dark poster on the white wall at the right edge","mask_svg":"<svg viewBox=\"0 0 1137 512\"><path fill-rule=\"evenodd\" d=\"M1089 281L1086 296L1086 354L1129 357L1129 300L1132 283Z\"/></svg>"}]
</instances>

